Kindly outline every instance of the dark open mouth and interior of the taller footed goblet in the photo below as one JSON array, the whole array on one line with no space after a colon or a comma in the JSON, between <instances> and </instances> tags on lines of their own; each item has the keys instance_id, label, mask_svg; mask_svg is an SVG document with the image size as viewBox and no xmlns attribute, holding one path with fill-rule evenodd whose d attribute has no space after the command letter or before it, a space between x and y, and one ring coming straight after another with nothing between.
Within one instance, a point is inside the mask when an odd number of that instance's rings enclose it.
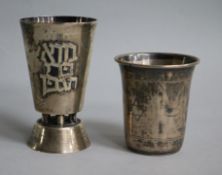
<instances>
[{"instance_id":1,"label":"dark open mouth and interior of the taller footed goblet","mask_svg":"<svg viewBox=\"0 0 222 175\"><path fill-rule=\"evenodd\" d=\"M21 23L90 23L95 22L95 18L82 16L39 16L22 18Z\"/></svg>"}]
</instances>

